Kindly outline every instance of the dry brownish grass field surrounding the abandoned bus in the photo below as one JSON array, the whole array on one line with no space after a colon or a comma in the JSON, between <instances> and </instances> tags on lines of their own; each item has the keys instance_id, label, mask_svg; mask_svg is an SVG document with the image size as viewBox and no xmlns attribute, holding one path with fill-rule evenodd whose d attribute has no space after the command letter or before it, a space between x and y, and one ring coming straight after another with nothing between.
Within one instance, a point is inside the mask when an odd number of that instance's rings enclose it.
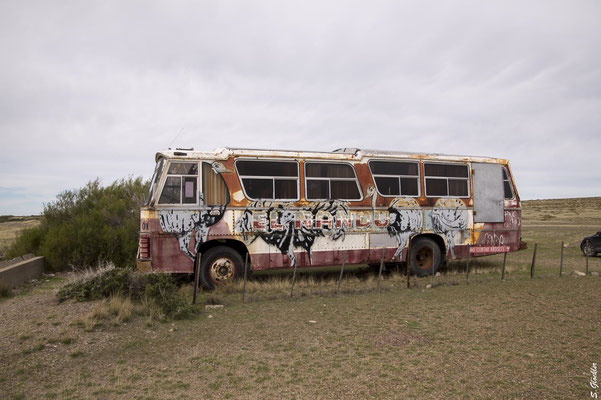
<instances>
[{"instance_id":1,"label":"dry brownish grass field surrounding the abandoned bus","mask_svg":"<svg viewBox=\"0 0 601 400\"><path fill-rule=\"evenodd\" d=\"M161 323L102 301L58 304L65 278L46 278L0 300L0 397L591 398L601 278L572 272L585 268L580 239L601 229L601 198L523 206L529 249L508 255L505 281L502 256L472 259L469 279L451 262L411 289L393 272L378 290L376 274L352 268L336 293L335 268L302 271L292 298L289 274L259 274L245 303L236 284L202 293L194 319Z\"/></svg>"}]
</instances>

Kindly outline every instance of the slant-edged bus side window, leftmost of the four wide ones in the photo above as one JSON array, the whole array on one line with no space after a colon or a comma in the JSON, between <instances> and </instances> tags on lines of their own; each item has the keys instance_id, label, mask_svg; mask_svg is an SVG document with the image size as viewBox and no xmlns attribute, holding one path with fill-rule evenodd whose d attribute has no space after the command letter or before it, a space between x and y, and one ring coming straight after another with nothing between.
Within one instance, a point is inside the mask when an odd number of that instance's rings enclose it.
<instances>
[{"instance_id":1,"label":"slant-edged bus side window, leftmost of the four wide ones","mask_svg":"<svg viewBox=\"0 0 601 400\"><path fill-rule=\"evenodd\" d=\"M250 199L299 199L296 161L237 160L236 169Z\"/></svg>"}]
</instances>

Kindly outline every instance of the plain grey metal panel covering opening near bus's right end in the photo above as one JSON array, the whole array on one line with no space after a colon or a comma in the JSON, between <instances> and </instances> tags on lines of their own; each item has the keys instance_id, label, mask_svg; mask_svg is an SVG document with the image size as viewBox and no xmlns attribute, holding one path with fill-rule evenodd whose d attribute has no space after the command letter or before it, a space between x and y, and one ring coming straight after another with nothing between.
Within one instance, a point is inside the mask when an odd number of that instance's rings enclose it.
<instances>
[{"instance_id":1,"label":"plain grey metal panel covering opening near bus's right end","mask_svg":"<svg viewBox=\"0 0 601 400\"><path fill-rule=\"evenodd\" d=\"M472 163L474 222L503 222L503 166Z\"/></svg>"}]
</instances>

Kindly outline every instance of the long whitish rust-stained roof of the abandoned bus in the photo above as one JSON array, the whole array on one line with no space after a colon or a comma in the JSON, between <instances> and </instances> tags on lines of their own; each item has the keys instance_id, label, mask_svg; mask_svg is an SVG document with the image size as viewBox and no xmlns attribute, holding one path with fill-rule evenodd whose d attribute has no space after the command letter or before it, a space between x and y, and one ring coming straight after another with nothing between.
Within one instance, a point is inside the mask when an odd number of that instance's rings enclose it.
<instances>
[{"instance_id":1,"label":"long whitish rust-stained roof of the abandoned bus","mask_svg":"<svg viewBox=\"0 0 601 400\"><path fill-rule=\"evenodd\" d=\"M346 160L361 161L364 158L392 158L392 159L426 159L426 160L444 160L444 161L473 161L507 164L503 158L452 155L438 153L416 153L396 150L373 150L358 149L354 147L345 147L331 152L326 151L305 151L305 150L275 150L275 149L246 149L222 147L214 149L212 152L195 151L194 149L169 149L157 152L156 160L159 158L178 158L178 159L210 159L227 160L230 157L274 157L274 158L308 158L308 159L327 159L327 160Z\"/></svg>"}]
</instances>

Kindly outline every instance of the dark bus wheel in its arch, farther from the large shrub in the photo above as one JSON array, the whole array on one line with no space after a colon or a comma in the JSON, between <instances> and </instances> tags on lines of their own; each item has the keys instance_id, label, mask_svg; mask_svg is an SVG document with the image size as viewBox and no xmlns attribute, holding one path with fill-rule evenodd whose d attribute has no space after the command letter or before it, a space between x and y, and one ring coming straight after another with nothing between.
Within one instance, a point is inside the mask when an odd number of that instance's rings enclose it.
<instances>
[{"instance_id":1,"label":"dark bus wheel in its arch, farther from the large shrub","mask_svg":"<svg viewBox=\"0 0 601 400\"><path fill-rule=\"evenodd\" d=\"M444 260L446 247L439 235L417 235L411 239L407 253L407 267L417 276L436 273Z\"/></svg>"}]
</instances>

